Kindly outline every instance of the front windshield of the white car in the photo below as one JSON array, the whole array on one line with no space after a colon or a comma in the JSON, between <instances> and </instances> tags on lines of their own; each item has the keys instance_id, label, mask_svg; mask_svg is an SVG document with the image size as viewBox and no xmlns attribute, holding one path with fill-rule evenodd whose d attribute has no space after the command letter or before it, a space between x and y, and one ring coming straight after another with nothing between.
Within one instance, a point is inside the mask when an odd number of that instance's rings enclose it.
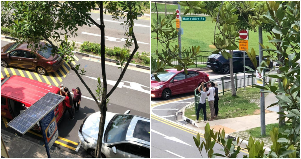
<instances>
[{"instance_id":1,"label":"front windshield of the white car","mask_svg":"<svg viewBox=\"0 0 301 159\"><path fill-rule=\"evenodd\" d=\"M126 132L128 131L129 124L131 123L133 116L130 115L118 115L109 124L109 131L107 133L107 143L115 143L126 140Z\"/></svg>"}]
</instances>

